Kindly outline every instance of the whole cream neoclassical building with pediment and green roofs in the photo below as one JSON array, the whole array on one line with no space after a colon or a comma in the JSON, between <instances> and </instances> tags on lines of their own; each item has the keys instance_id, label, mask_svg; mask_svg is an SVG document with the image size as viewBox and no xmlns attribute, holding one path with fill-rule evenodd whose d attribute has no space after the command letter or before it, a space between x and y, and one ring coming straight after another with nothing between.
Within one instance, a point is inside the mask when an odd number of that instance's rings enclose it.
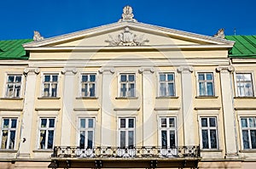
<instances>
[{"instance_id":1,"label":"whole cream neoclassical building with pediment and green roofs","mask_svg":"<svg viewBox=\"0 0 256 169\"><path fill-rule=\"evenodd\" d=\"M14 41L20 53L0 46L0 166L255 167L255 36L207 37L123 11L59 37L36 31Z\"/></svg>"}]
</instances>

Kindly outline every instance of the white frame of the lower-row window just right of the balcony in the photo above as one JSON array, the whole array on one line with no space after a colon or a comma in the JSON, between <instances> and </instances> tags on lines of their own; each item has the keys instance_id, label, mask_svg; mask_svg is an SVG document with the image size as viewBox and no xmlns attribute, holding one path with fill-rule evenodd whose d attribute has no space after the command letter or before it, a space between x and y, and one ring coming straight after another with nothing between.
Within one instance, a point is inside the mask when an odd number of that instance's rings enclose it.
<instances>
[{"instance_id":1,"label":"white frame of the lower-row window just right of the balcony","mask_svg":"<svg viewBox=\"0 0 256 169\"><path fill-rule=\"evenodd\" d=\"M201 119L202 118L207 118L207 127L202 127L201 126ZM210 123L209 123L209 119L210 118L215 118L215 123L216 123L216 127L209 127ZM200 125L200 144L201 144L201 149L219 149L219 133L218 133L218 116L217 115L201 115L199 116L199 125ZM203 144L202 144L202 130L207 130L208 133L208 146L209 148L203 148ZM210 139L210 130L216 130L216 144L217 144L217 148L212 148L212 144L211 144L211 139Z\"/></svg>"}]
</instances>

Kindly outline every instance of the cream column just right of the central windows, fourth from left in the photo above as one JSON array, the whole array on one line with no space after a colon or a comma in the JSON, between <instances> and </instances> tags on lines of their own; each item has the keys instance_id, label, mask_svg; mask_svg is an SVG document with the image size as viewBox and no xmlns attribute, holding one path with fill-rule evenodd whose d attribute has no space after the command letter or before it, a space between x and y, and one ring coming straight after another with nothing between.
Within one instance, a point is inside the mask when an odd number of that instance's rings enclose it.
<instances>
[{"instance_id":1,"label":"cream column just right of the central windows, fourth from left","mask_svg":"<svg viewBox=\"0 0 256 169\"><path fill-rule=\"evenodd\" d=\"M139 73L143 76L143 146L152 146L155 145L153 135L158 128L154 114L154 68L141 68Z\"/></svg>"}]
</instances>

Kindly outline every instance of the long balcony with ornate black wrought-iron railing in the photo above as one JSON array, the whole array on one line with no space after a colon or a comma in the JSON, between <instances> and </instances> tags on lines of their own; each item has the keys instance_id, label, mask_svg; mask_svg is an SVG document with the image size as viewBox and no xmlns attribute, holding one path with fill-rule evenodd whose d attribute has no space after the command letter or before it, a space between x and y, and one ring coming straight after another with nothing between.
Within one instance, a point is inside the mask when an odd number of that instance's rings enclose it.
<instances>
[{"instance_id":1,"label":"long balcony with ornate black wrought-iron railing","mask_svg":"<svg viewBox=\"0 0 256 169\"><path fill-rule=\"evenodd\" d=\"M55 146L52 168L196 168L199 146L93 147Z\"/></svg>"}]
</instances>

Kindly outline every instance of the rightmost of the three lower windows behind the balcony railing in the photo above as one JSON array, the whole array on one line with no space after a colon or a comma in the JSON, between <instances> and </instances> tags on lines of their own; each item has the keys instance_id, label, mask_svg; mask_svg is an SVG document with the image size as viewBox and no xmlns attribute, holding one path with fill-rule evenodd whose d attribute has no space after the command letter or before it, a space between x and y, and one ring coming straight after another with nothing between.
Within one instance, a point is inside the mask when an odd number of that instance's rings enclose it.
<instances>
[{"instance_id":1,"label":"rightmost of the three lower windows behind the balcony railing","mask_svg":"<svg viewBox=\"0 0 256 169\"><path fill-rule=\"evenodd\" d=\"M174 117L160 118L160 141L163 148L172 148L177 145L176 119Z\"/></svg>"}]
</instances>

